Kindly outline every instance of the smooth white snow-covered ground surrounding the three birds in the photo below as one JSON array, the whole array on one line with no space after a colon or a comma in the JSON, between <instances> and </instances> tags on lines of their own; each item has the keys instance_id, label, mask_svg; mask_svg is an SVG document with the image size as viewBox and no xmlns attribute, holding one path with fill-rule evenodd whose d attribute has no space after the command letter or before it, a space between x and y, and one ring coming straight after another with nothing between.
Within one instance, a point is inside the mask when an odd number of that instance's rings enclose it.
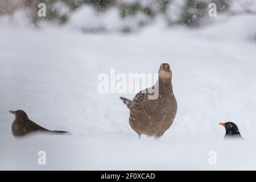
<instances>
[{"instance_id":1,"label":"smooth white snow-covered ground surrounding the three birds","mask_svg":"<svg viewBox=\"0 0 256 182\"><path fill-rule=\"evenodd\" d=\"M129 35L1 27L0 169L256 169L255 21L237 16ZM171 65L177 117L160 140L138 140L119 100L135 93L99 94L97 76L112 68L156 73L161 63ZM18 109L72 135L15 139L8 111ZM222 141L218 122L227 121L245 141ZM46 151L46 166L38 151Z\"/></svg>"}]
</instances>

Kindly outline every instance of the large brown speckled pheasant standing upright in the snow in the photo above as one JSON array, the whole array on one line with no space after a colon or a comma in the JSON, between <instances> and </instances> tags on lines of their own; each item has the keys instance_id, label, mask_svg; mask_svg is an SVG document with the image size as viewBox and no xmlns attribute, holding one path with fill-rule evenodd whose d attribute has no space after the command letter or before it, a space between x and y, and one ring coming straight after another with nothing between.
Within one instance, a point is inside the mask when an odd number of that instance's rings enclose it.
<instances>
[{"instance_id":1,"label":"large brown speckled pheasant standing upright in the snow","mask_svg":"<svg viewBox=\"0 0 256 182\"><path fill-rule=\"evenodd\" d=\"M129 123L139 138L141 134L156 138L161 137L170 128L177 113L170 65L161 64L158 73L156 84L152 88L139 92L132 101L120 97L130 110ZM154 90L154 94L158 93L156 98L150 97L152 90Z\"/></svg>"}]
</instances>

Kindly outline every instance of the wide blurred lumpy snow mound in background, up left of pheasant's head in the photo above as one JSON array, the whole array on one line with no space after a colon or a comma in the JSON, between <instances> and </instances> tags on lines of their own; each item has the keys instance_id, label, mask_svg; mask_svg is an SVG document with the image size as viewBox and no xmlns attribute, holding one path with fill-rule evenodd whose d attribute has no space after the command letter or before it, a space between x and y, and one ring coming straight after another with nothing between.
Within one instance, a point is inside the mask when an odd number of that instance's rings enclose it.
<instances>
[{"instance_id":1,"label":"wide blurred lumpy snow mound in background, up left of pheasant's head","mask_svg":"<svg viewBox=\"0 0 256 182\"><path fill-rule=\"evenodd\" d=\"M126 28L136 29L140 24L146 24L149 21L150 18L140 12L136 15L121 18L117 7L97 12L93 7L84 5L71 14L65 28L80 31L120 32Z\"/></svg>"}]
</instances>

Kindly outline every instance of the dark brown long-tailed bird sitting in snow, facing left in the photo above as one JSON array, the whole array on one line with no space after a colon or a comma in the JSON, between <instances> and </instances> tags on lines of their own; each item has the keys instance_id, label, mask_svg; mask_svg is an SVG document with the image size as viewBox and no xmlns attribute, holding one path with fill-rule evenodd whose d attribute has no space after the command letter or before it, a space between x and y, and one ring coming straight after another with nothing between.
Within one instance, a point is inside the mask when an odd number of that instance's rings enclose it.
<instances>
[{"instance_id":1,"label":"dark brown long-tailed bird sitting in snow, facing left","mask_svg":"<svg viewBox=\"0 0 256 182\"><path fill-rule=\"evenodd\" d=\"M13 125L11 126L11 131L14 137L22 137L35 131L42 131L53 134L68 134L67 131L51 131L37 125L28 119L27 114L23 110L10 111L10 113L15 115Z\"/></svg>"}]
</instances>

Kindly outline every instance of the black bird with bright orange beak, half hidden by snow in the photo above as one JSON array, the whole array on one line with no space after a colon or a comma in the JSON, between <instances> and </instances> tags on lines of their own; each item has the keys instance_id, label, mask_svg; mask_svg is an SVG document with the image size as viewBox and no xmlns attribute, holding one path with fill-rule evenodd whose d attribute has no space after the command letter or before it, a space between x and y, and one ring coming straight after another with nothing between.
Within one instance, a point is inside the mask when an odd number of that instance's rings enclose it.
<instances>
[{"instance_id":1,"label":"black bird with bright orange beak, half hidden by snow","mask_svg":"<svg viewBox=\"0 0 256 182\"><path fill-rule=\"evenodd\" d=\"M226 134L224 139L243 139L238 127L233 122L219 123L219 125L224 126L226 129Z\"/></svg>"}]
</instances>

